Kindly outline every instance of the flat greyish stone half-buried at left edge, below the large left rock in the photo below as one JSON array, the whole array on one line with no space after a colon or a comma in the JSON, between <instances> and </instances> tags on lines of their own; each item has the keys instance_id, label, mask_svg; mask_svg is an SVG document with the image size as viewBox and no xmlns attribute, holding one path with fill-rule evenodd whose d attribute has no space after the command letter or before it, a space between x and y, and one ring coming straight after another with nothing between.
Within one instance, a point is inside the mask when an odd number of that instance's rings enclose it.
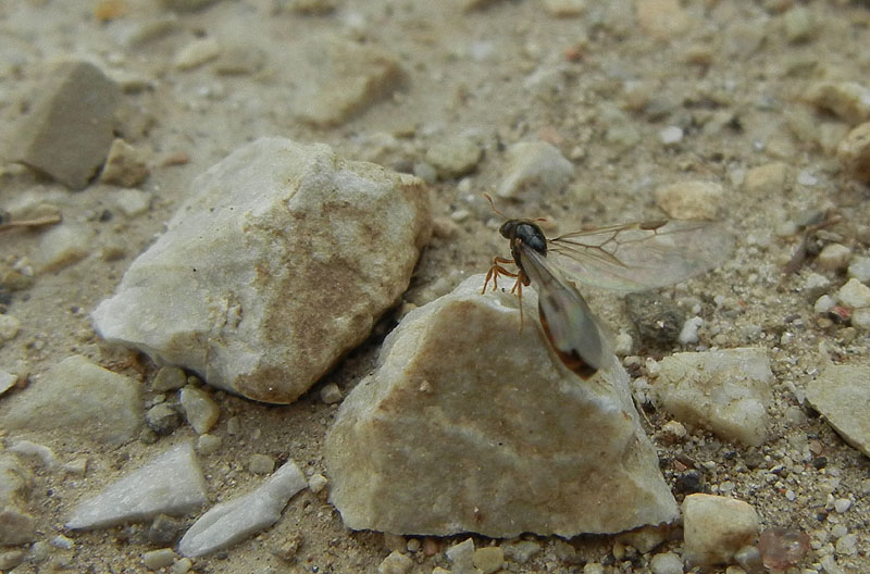
<instances>
[{"instance_id":1,"label":"flat greyish stone half-buried at left edge, below the large left rock","mask_svg":"<svg viewBox=\"0 0 870 574\"><path fill-rule=\"evenodd\" d=\"M0 405L0 427L62 430L77 437L120 444L142 425L139 385L74 354Z\"/></svg>"}]
</instances>

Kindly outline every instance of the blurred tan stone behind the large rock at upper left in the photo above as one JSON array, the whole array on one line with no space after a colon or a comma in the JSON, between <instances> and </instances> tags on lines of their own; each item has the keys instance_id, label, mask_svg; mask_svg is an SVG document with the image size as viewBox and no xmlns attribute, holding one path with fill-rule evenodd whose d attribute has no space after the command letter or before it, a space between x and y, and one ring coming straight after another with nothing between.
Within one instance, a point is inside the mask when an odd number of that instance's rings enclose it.
<instances>
[{"instance_id":1,"label":"blurred tan stone behind the large rock at upper left","mask_svg":"<svg viewBox=\"0 0 870 574\"><path fill-rule=\"evenodd\" d=\"M299 85L293 109L318 126L340 124L389 96L405 77L393 54L335 36L304 41L288 58Z\"/></svg>"}]
</instances>

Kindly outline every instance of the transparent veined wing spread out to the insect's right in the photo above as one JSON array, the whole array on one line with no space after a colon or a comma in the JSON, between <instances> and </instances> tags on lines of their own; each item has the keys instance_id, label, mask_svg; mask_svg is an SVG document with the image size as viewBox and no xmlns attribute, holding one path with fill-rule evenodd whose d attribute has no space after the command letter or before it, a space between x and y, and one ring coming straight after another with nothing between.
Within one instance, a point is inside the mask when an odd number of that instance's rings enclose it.
<instances>
[{"instance_id":1,"label":"transparent veined wing spread out to the insect's right","mask_svg":"<svg viewBox=\"0 0 870 574\"><path fill-rule=\"evenodd\" d=\"M734 236L719 223L673 220L566 234L549 240L547 259L571 280L637 291L709 271L733 248Z\"/></svg>"}]
</instances>

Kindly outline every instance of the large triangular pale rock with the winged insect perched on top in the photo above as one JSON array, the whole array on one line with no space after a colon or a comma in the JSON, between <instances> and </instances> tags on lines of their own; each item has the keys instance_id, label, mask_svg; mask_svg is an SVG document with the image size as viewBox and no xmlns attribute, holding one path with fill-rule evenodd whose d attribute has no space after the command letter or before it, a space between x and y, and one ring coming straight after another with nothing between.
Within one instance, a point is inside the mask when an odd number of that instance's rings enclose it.
<instances>
[{"instance_id":1,"label":"large triangular pale rock with the winged insect perched on top","mask_svg":"<svg viewBox=\"0 0 870 574\"><path fill-rule=\"evenodd\" d=\"M672 521L676 503L616 361L582 380L539 332L536 297L483 276L409 313L325 446L345 524L396 534L574 536Z\"/></svg>"}]
</instances>

